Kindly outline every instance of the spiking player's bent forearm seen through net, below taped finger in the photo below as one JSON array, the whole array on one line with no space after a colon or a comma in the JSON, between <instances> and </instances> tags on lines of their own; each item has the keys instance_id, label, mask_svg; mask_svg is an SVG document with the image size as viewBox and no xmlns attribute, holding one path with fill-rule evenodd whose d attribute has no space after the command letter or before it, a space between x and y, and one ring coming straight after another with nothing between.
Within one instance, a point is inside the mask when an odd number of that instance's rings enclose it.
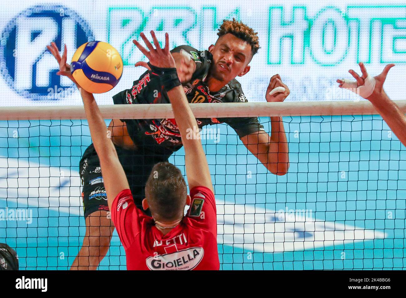
<instances>
[{"instance_id":1,"label":"spiking player's bent forearm seen through net, below taped finger","mask_svg":"<svg viewBox=\"0 0 406 298\"><path fill-rule=\"evenodd\" d=\"M287 143L282 117L272 116L271 137L268 146L268 160L276 161L276 174L283 175L289 169L289 146Z\"/></svg>"}]
</instances>

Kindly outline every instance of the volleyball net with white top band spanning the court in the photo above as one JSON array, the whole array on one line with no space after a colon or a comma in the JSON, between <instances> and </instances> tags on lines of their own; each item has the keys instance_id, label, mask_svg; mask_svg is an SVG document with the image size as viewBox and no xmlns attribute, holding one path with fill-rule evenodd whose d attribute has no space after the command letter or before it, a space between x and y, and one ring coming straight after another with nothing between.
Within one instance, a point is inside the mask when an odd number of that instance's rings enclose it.
<instances>
[{"instance_id":1,"label":"volleyball net with white top band spanning the court","mask_svg":"<svg viewBox=\"0 0 406 298\"><path fill-rule=\"evenodd\" d=\"M406 111L406 101L396 101ZM226 124L201 132L223 270L404 269L406 149L367 101L191 104L197 118L283 116L289 172L274 175ZM110 119L173 118L171 105L100 106ZM85 234L83 107L0 116L0 242L20 269L68 269ZM185 174L184 150L169 161ZM185 176L186 178L186 176ZM95 196L94 199L98 199ZM124 270L114 232L100 270Z\"/></svg>"}]
</instances>

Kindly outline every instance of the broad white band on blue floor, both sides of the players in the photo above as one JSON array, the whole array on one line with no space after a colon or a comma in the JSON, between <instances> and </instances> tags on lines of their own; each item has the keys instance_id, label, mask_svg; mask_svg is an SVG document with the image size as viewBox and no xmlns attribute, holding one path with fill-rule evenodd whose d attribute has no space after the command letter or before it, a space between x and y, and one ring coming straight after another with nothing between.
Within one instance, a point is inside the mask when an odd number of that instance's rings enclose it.
<instances>
[{"instance_id":1,"label":"broad white band on blue floor, both sides of the players","mask_svg":"<svg viewBox=\"0 0 406 298\"><path fill-rule=\"evenodd\" d=\"M45 207L72 216L83 216L77 172L62 167L28 164L26 160L15 158L0 158L0 164L3 166L0 168L0 178L3 178L0 179L0 199L7 198L8 202L18 200L20 206ZM307 217L307 214L275 212L254 204L229 204L218 197L216 203L218 243L252 252L322 250L348 242L385 237L379 231L320 221Z\"/></svg>"}]
</instances>

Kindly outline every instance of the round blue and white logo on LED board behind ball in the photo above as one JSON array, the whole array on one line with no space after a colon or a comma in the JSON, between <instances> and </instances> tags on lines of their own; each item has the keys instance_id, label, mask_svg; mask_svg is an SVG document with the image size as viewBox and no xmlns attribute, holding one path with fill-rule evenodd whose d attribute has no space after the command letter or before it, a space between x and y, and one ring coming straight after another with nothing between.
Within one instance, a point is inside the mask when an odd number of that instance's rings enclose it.
<instances>
[{"instance_id":1,"label":"round blue and white logo on LED board behind ball","mask_svg":"<svg viewBox=\"0 0 406 298\"><path fill-rule=\"evenodd\" d=\"M92 40L88 24L75 11L59 5L33 6L3 29L0 71L7 84L28 99L60 99L55 95L71 90L72 82L56 75L58 64L46 45L55 42L61 49L66 44L72 55L77 47Z\"/></svg>"}]
</instances>

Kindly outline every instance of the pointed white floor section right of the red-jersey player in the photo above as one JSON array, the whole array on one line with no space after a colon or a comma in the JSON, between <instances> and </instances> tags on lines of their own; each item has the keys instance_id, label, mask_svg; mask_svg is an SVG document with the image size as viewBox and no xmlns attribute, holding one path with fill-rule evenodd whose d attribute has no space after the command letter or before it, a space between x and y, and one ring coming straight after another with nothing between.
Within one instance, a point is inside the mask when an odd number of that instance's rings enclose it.
<instances>
[{"instance_id":1,"label":"pointed white floor section right of the red-jersey player","mask_svg":"<svg viewBox=\"0 0 406 298\"><path fill-rule=\"evenodd\" d=\"M324 248L344 243L380 239L371 229L311 219L306 214L275 212L251 205L217 202L217 241L248 251L282 252Z\"/></svg>"}]
</instances>

